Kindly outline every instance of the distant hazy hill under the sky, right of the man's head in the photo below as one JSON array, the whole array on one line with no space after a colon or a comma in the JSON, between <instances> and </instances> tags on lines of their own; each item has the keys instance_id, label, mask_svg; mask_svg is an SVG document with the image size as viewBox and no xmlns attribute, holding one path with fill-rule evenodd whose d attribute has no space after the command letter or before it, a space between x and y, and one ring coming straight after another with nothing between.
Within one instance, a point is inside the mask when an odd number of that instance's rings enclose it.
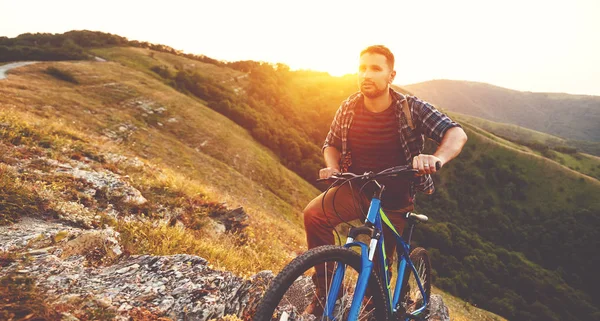
<instances>
[{"instance_id":1,"label":"distant hazy hill under the sky, right of the man's head","mask_svg":"<svg viewBox=\"0 0 600 321\"><path fill-rule=\"evenodd\" d=\"M600 97L520 92L484 83L433 80L405 86L446 110L581 141L600 141Z\"/></svg>"}]
</instances>

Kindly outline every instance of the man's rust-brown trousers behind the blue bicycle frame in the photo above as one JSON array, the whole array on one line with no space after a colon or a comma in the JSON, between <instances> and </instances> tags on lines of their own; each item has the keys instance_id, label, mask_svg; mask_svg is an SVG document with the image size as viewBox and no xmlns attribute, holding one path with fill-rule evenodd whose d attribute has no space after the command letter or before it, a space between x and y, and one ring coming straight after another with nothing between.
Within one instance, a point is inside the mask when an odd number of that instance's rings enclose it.
<instances>
[{"instance_id":1,"label":"man's rust-brown trousers behind the blue bicycle frame","mask_svg":"<svg viewBox=\"0 0 600 321\"><path fill-rule=\"evenodd\" d=\"M359 194L357 187L352 191L348 184L334 187L327 194L322 193L313 199L304 209L304 229L306 230L308 248L312 249L320 245L335 244L335 237L333 235L335 226L342 222L350 222L356 219L364 221L369 208L369 202L370 199ZM362 204L362 209L364 210L362 213L360 212L359 204ZM412 209L413 206L410 205L402 210L385 210L387 217L398 233L402 234L406 223L403 214L407 211L412 211ZM383 235L387 240L385 243L385 254L391 260L396 249L394 232L384 224ZM321 273L317 271L317 274Z\"/></svg>"}]
</instances>

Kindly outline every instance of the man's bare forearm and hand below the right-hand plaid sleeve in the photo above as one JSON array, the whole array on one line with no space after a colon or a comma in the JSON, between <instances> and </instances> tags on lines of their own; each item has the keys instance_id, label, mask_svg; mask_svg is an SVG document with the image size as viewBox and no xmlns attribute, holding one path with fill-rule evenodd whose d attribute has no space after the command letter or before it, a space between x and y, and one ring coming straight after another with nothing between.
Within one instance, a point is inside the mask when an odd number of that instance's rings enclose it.
<instances>
[{"instance_id":1,"label":"man's bare forearm and hand below the right-hand plaid sleeve","mask_svg":"<svg viewBox=\"0 0 600 321\"><path fill-rule=\"evenodd\" d=\"M460 127L452 127L444 133L442 141L433 155L421 154L413 158L413 168L419 169L420 174L433 174L437 170L436 162L442 166L458 156L467 143L467 134Z\"/></svg>"}]
</instances>

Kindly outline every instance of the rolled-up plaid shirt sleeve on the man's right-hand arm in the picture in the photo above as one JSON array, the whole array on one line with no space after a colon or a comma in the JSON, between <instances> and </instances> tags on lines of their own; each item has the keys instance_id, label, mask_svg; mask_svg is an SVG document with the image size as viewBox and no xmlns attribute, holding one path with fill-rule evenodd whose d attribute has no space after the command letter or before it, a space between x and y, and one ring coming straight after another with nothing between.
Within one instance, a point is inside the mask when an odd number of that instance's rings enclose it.
<instances>
[{"instance_id":1,"label":"rolled-up plaid shirt sleeve on the man's right-hand arm in the picture","mask_svg":"<svg viewBox=\"0 0 600 321\"><path fill-rule=\"evenodd\" d=\"M438 144L442 142L442 138L444 138L444 134L448 129L462 127L428 102L415 99L413 108L419 117L423 134L435 140Z\"/></svg>"}]
</instances>

